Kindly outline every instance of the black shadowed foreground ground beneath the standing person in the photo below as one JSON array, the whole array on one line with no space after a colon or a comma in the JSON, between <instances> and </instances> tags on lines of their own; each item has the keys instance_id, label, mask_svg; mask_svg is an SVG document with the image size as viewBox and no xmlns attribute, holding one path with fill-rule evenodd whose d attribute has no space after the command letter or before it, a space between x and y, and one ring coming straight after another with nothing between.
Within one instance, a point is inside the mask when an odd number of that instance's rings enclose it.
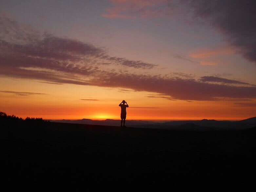
<instances>
[{"instance_id":1,"label":"black shadowed foreground ground beneath the standing person","mask_svg":"<svg viewBox=\"0 0 256 192\"><path fill-rule=\"evenodd\" d=\"M2 182L19 191L254 191L255 136L256 128L196 132L2 124Z\"/></svg>"}]
</instances>

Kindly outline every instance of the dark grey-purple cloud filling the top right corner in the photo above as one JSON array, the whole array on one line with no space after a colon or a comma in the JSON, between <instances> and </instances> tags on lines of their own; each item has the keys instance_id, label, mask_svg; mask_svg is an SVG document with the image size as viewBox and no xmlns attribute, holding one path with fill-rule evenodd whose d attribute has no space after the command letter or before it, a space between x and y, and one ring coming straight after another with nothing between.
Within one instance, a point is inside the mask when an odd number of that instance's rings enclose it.
<instances>
[{"instance_id":1,"label":"dark grey-purple cloud filling the top right corner","mask_svg":"<svg viewBox=\"0 0 256 192\"><path fill-rule=\"evenodd\" d=\"M256 1L181 0L181 3L187 5L194 19L203 19L220 30L244 58L256 63Z\"/></svg>"}]
</instances>

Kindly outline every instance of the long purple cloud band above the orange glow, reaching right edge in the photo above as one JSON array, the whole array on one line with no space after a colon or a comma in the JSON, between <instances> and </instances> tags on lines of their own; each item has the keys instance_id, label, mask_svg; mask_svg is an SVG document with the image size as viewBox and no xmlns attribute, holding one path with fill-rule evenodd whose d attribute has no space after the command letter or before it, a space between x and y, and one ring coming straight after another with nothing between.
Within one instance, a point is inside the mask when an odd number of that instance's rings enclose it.
<instances>
[{"instance_id":1,"label":"long purple cloud band above the orange glow, reaching right edge","mask_svg":"<svg viewBox=\"0 0 256 192\"><path fill-rule=\"evenodd\" d=\"M194 79L162 78L151 75L108 73L94 85L150 91L180 100L218 100L218 98L256 98L256 87L209 84Z\"/></svg>"}]
</instances>

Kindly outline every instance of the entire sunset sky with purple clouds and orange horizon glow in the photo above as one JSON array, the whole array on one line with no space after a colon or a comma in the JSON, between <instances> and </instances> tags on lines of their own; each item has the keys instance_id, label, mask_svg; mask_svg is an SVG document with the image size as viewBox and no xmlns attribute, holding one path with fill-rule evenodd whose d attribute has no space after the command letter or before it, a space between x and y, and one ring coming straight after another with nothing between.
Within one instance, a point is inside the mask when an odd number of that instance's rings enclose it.
<instances>
[{"instance_id":1,"label":"entire sunset sky with purple clouds and orange horizon glow","mask_svg":"<svg viewBox=\"0 0 256 192\"><path fill-rule=\"evenodd\" d=\"M253 0L0 0L0 110L26 118L256 116Z\"/></svg>"}]
</instances>

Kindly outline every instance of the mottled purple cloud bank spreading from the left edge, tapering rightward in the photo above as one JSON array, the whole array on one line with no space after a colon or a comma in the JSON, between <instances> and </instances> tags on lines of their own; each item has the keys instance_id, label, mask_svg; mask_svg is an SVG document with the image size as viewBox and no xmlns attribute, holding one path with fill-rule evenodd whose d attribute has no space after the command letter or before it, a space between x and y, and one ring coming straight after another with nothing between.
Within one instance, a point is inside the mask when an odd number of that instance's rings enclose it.
<instances>
[{"instance_id":1,"label":"mottled purple cloud bank spreading from the left edge, tapering rightward","mask_svg":"<svg viewBox=\"0 0 256 192\"><path fill-rule=\"evenodd\" d=\"M26 29L26 27L28 29ZM26 30L25 30L26 29ZM89 43L60 38L19 24L5 15L0 15L0 59L3 65L19 60L22 67L50 67L54 70L76 70L85 74L102 65L114 65L150 69L156 65L113 57L103 48ZM6 64L6 60L9 64ZM12 61L11 61L12 60ZM13 64L15 65L15 64Z\"/></svg>"}]
</instances>

